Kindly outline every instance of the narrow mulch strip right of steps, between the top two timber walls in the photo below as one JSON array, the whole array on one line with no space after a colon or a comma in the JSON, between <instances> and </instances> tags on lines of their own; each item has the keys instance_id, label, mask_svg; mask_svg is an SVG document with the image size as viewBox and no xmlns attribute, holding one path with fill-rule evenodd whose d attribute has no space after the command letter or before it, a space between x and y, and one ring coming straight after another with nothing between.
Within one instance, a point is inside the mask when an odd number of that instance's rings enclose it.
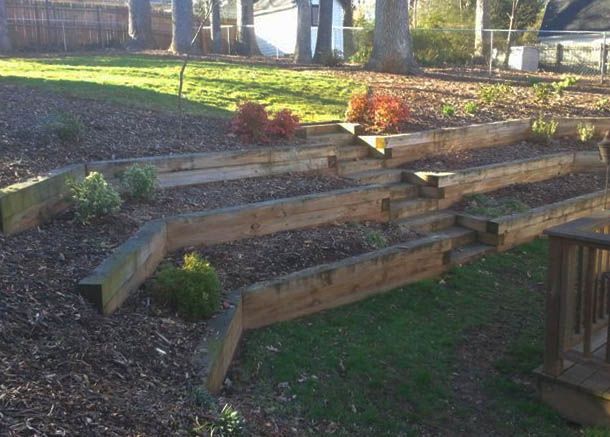
<instances>
[{"instance_id":1,"label":"narrow mulch strip right of steps, between the top two timber walls","mask_svg":"<svg viewBox=\"0 0 610 437\"><path fill-rule=\"evenodd\" d=\"M486 147L482 149L461 150L412 161L403 166L417 171L461 170L518 159L537 158L560 152L597 151L594 142L580 143L574 139L562 138L549 144L522 141L510 146Z\"/></svg>"}]
</instances>

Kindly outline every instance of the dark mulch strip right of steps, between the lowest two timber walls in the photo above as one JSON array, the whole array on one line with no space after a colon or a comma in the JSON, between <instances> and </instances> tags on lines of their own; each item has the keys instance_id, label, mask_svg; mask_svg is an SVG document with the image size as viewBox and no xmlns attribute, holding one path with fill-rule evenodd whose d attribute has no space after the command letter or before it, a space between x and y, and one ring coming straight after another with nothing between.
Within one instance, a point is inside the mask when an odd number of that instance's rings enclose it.
<instances>
[{"instance_id":1,"label":"dark mulch strip right of steps, between the lowest two timber walls","mask_svg":"<svg viewBox=\"0 0 610 437\"><path fill-rule=\"evenodd\" d=\"M594 193L603 190L604 187L604 173L575 173L541 182L510 185L490 193L485 193L484 196L499 202L502 199L518 200L530 208L537 208L584 194ZM467 212L472 206L473 200L466 198L451 209Z\"/></svg>"}]
</instances>

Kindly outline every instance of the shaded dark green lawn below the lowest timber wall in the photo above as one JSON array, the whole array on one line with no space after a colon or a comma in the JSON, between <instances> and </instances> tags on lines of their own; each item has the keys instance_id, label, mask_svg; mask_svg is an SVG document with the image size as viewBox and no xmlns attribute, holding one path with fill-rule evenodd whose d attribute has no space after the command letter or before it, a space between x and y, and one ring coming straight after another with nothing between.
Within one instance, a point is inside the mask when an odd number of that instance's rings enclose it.
<instances>
[{"instance_id":1,"label":"shaded dark green lawn below the lowest timber wall","mask_svg":"<svg viewBox=\"0 0 610 437\"><path fill-rule=\"evenodd\" d=\"M547 250L536 241L252 332L235 396L340 435L609 435L568 425L536 398Z\"/></svg>"}]
</instances>

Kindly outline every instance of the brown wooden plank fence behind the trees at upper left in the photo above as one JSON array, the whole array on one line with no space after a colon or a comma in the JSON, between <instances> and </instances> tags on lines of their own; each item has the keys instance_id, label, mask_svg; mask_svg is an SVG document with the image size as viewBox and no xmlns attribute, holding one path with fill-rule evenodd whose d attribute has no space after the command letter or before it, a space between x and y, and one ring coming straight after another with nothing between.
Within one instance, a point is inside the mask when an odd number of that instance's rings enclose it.
<instances>
[{"instance_id":1,"label":"brown wooden plank fence behind the trees at upper left","mask_svg":"<svg viewBox=\"0 0 610 437\"><path fill-rule=\"evenodd\" d=\"M128 39L128 10L123 3L70 3L55 0L7 0L9 37L19 51L75 51L122 47ZM196 25L198 26L198 24ZM172 37L168 11L153 10L155 45L165 50ZM223 26L223 52L234 46L235 31ZM204 28L197 47L208 53L210 30Z\"/></svg>"}]
</instances>

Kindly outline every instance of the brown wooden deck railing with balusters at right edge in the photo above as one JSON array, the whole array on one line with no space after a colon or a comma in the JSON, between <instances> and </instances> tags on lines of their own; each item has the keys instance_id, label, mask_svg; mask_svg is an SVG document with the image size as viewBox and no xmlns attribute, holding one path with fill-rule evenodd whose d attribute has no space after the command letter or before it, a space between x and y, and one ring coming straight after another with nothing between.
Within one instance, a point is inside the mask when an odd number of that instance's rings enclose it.
<instances>
[{"instance_id":1,"label":"brown wooden deck railing with balusters at right edge","mask_svg":"<svg viewBox=\"0 0 610 437\"><path fill-rule=\"evenodd\" d=\"M610 213L551 228L544 372L565 361L610 363Z\"/></svg>"}]
</instances>

